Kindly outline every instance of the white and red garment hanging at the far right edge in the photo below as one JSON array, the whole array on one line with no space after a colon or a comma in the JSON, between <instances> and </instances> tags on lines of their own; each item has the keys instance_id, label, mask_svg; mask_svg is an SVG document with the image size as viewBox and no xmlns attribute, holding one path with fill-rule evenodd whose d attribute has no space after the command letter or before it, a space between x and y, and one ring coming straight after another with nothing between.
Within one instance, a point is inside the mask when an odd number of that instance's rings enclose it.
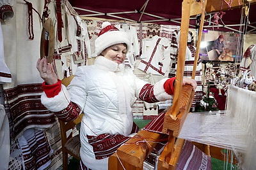
<instances>
[{"instance_id":1,"label":"white and red garment hanging at the far right edge","mask_svg":"<svg viewBox=\"0 0 256 170\"><path fill-rule=\"evenodd\" d=\"M252 60L252 63L250 63ZM244 52L241 60L241 71L250 69L250 74L256 78L256 44L250 45Z\"/></svg>"}]
</instances>

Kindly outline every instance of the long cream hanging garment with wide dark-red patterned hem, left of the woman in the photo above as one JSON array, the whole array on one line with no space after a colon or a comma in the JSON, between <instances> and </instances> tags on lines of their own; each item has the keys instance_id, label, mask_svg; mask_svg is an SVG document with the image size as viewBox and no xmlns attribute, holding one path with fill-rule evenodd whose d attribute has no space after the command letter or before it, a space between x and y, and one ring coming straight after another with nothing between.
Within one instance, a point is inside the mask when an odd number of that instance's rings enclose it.
<instances>
[{"instance_id":1,"label":"long cream hanging garment with wide dark-red patterned hem, left of the woman","mask_svg":"<svg viewBox=\"0 0 256 170\"><path fill-rule=\"evenodd\" d=\"M34 1L32 5L42 15L44 1ZM3 88L6 103L10 106L12 114L14 138L17 139L26 129L47 129L52 127L56 120L51 111L44 108L40 102L42 78L37 74L35 64L40 57L42 22L33 11L34 39L30 40L28 5L22 0L17 0L13 4L13 11L16 15L2 25L4 59L12 72L12 83L3 84Z\"/></svg>"}]
</instances>

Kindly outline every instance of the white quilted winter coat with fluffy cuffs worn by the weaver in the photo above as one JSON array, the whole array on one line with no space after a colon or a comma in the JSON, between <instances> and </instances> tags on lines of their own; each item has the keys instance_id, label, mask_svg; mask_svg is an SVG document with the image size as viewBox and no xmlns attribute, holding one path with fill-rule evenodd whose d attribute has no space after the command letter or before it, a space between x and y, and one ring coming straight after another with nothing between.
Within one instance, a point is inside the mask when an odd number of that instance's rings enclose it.
<instances>
[{"instance_id":1,"label":"white quilted winter coat with fluffy cuffs worn by the weaver","mask_svg":"<svg viewBox=\"0 0 256 170\"><path fill-rule=\"evenodd\" d=\"M154 85L154 95L159 101L172 99L164 92L165 81ZM95 160L86 134L129 136L133 124L131 106L145 84L147 82L137 78L129 67L99 56L94 65L77 67L67 89L62 85L61 92L52 98L47 98L43 93L41 100L51 111L65 109L70 101L78 104L84 112L80 135L81 159L91 169L101 169L108 167L108 159Z\"/></svg>"}]
</instances>

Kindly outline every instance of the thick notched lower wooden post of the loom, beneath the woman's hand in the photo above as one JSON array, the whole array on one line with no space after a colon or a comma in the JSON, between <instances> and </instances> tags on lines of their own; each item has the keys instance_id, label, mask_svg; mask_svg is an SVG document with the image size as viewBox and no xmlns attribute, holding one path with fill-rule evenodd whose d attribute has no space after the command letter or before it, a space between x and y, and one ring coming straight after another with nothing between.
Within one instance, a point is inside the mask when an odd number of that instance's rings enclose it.
<instances>
[{"instance_id":1,"label":"thick notched lower wooden post of the loom, beneath the woman's hand","mask_svg":"<svg viewBox=\"0 0 256 170\"><path fill-rule=\"evenodd\" d=\"M158 169L176 169L176 163L179 160L184 139L179 139L177 136L186 120L189 109L193 102L194 90L190 85L184 85L180 94L180 111L177 117L173 117L172 109L167 111L164 116L163 132L169 132L167 145L164 147L158 160Z\"/></svg>"}]
</instances>

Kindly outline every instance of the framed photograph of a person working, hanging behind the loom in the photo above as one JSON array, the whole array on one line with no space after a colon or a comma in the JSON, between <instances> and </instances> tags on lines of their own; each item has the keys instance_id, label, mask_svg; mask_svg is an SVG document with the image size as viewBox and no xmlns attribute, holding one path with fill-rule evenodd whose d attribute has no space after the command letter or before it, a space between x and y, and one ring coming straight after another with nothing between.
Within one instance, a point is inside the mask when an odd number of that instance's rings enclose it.
<instances>
[{"instance_id":1,"label":"framed photograph of a person working, hanging behind the loom","mask_svg":"<svg viewBox=\"0 0 256 170\"><path fill-rule=\"evenodd\" d=\"M199 56L201 60L235 61L241 60L237 55L237 46L243 45L239 41L239 33L209 31L204 29L200 43Z\"/></svg>"}]
</instances>

